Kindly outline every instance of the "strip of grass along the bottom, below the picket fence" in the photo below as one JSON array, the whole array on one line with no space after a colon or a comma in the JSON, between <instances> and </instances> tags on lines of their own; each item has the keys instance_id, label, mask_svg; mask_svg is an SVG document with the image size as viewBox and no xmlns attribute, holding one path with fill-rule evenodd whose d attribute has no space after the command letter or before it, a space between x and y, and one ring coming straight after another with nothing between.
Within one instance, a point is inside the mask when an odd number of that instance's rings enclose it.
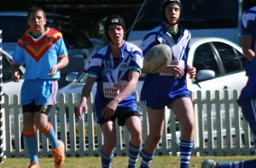
<instances>
[{"instance_id":1,"label":"strip of grass along the bottom, below the picket fence","mask_svg":"<svg viewBox=\"0 0 256 168\"><path fill-rule=\"evenodd\" d=\"M232 156L232 157L192 157L190 168L201 167L201 161L205 159L214 159L221 162L230 162L237 160L253 160L255 156ZM113 168L127 167L127 157L114 157ZM139 160L138 163L140 163ZM27 158L12 158L4 159L0 167L4 168L26 168L29 165ZM41 158L41 168L53 168L53 158ZM99 168L101 167L101 158L99 157L84 157L84 158L67 158L63 168ZM151 168L178 168L179 157L175 156L156 156L151 164Z\"/></svg>"}]
</instances>

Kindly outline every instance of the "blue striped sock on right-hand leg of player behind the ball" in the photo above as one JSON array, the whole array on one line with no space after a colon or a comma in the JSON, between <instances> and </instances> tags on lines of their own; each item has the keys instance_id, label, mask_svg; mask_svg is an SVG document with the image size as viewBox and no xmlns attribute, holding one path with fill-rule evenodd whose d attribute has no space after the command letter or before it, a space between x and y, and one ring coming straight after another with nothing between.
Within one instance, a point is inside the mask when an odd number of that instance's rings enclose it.
<instances>
[{"instance_id":1,"label":"blue striped sock on right-hand leg of player behind the ball","mask_svg":"<svg viewBox=\"0 0 256 168\"><path fill-rule=\"evenodd\" d=\"M189 168L189 161L192 154L192 150L194 148L194 141L183 141L181 140L179 143L180 148L180 167L181 168Z\"/></svg>"}]
</instances>

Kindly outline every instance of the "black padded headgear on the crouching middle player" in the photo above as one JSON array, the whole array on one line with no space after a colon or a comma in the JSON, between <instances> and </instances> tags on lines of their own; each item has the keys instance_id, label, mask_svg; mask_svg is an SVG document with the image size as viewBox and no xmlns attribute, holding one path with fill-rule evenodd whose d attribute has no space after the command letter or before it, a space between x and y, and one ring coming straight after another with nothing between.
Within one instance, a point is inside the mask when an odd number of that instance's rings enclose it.
<instances>
[{"instance_id":1,"label":"black padded headgear on the crouching middle player","mask_svg":"<svg viewBox=\"0 0 256 168\"><path fill-rule=\"evenodd\" d=\"M110 15L107 17L107 19L104 22L104 31L105 36L107 37L108 41L111 41L109 35L108 35L108 28L110 25L121 25L124 31L126 30L125 27L125 20L119 16L119 15Z\"/></svg>"}]
</instances>

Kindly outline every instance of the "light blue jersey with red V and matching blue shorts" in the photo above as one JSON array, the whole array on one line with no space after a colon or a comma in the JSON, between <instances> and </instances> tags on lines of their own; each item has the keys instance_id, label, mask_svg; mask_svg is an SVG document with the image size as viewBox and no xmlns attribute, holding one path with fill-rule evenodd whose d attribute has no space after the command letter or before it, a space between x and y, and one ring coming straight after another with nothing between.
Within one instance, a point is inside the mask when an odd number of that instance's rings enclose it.
<instances>
[{"instance_id":1,"label":"light blue jersey with red V and matching blue shorts","mask_svg":"<svg viewBox=\"0 0 256 168\"><path fill-rule=\"evenodd\" d=\"M67 48L60 31L46 28L38 38L31 30L18 39L12 64L26 67L25 81L21 87L21 104L54 104L60 71L54 76L49 72L61 58L67 58Z\"/></svg>"}]
</instances>

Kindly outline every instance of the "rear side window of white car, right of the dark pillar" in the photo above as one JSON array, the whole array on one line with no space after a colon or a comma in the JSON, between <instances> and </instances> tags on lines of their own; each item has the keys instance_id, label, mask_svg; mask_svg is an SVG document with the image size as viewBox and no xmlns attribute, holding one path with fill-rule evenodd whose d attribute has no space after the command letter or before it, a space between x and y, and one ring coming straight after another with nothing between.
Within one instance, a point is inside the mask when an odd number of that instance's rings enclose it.
<instances>
[{"instance_id":1,"label":"rear side window of white car, right of the dark pillar","mask_svg":"<svg viewBox=\"0 0 256 168\"><path fill-rule=\"evenodd\" d=\"M236 48L233 48L224 42L212 43L218 51L226 73L244 69L245 57L237 51Z\"/></svg>"}]
</instances>

